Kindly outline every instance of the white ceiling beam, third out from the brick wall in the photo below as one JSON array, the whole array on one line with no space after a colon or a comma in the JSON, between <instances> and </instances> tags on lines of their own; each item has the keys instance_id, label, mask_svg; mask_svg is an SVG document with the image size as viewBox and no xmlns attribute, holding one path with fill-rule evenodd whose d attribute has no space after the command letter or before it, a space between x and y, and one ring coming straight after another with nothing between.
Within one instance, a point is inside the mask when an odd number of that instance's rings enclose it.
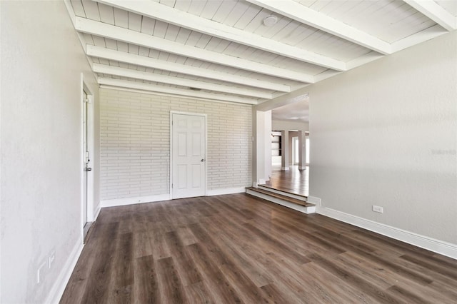
<instances>
[{"instance_id":1,"label":"white ceiling beam, third out from the brick wall","mask_svg":"<svg viewBox=\"0 0 457 304\"><path fill-rule=\"evenodd\" d=\"M146 56L130 54L123 51L115 51L111 49L102 48L100 46L91 46L89 44L86 46L86 55L113 61L125 62L126 64L134 64L136 66L146 66L152 69L171 71L179 74L187 74L210 79L218 79L220 81L242 84L244 86L266 88L267 90L271 91L281 91L286 93L291 91L290 86L286 86L285 84L281 83L273 83L270 81L262 81L254 78L236 76L224 72L202 69L196 66L176 64L175 62L163 61Z\"/></svg>"}]
</instances>

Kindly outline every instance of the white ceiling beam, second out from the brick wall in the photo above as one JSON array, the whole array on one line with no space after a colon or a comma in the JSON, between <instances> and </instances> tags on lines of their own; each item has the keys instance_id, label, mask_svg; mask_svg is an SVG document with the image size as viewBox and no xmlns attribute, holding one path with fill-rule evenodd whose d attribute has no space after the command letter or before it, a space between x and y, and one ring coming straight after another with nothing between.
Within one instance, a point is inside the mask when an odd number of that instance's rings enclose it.
<instances>
[{"instance_id":1,"label":"white ceiling beam, second out from the brick wall","mask_svg":"<svg viewBox=\"0 0 457 304\"><path fill-rule=\"evenodd\" d=\"M266 93L263 91L248 89L248 88L239 88L236 86L224 86L216 83L208 83L204 81L196 81L186 78L179 78L167 75L159 75L148 73L144 71L136 71L133 69L124 69L119 68L118 66L107 66L106 64L92 64L92 70L95 73L100 74L110 74L121 77L142 79L147 81L154 81L160 83L168 83L175 86L187 86L189 88L201 88L209 91L218 91L223 93L231 93L236 95L251 96L254 98L266 98L271 99L271 93Z\"/></svg>"}]
</instances>

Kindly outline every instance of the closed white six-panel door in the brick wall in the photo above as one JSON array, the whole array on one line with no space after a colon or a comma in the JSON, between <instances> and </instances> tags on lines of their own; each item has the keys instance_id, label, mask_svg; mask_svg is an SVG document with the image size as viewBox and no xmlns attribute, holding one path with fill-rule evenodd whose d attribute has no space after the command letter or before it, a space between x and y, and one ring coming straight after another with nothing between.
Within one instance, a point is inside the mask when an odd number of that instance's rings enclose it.
<instances>
[{"instance_id":1,"label":"closed white six-panel door in the brick wall","mask_svg":"<svg viewBox=\"0 0 457 304\"><path fill-rule=\"evenodd\" d=\"M171 197L206 194L206 117L172 114Z\"/></svg>"}]
</instances>

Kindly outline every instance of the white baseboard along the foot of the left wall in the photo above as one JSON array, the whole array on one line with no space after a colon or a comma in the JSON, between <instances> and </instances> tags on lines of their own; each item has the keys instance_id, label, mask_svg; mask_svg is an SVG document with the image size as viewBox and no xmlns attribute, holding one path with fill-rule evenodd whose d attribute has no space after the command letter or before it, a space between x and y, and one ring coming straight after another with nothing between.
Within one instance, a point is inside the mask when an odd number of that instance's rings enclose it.
<instances>
[{"instance_id":1,"label":"white baseboard along the foot of the left wall","mask_svg":"<svg viewBox=\"0 0 457 304\"><path fill-rule=\"evenodd\" d=\"M78 262L79 255L81 255L83 247L83 240L79 238L76 244L74 245L73 250L71 250L69 258L66 260L64 268L62 268L61 272L59 273L56 282L54 283L54 285L52 285L51 291L49 291L49 294L46 297L44 303L59 303L60 299L62 298L62 295L64 294L66 285L69 283L71 273L73 273L73 270L76 266L76 263Z\"/></svg>"}]
</instances>

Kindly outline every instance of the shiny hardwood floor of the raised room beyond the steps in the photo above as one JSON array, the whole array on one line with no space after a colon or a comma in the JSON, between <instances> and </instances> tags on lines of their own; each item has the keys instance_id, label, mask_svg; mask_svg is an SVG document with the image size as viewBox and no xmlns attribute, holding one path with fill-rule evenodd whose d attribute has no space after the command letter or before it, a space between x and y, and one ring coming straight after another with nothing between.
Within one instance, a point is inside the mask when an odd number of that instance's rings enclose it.
<instances>
[{"instance_id":1,"label":"shiny hardwood floor of the raised room beyond the steps","mask_svg":"<svg viewBox=\"0 0 457 304\"><path fill-rule=\"evenodd\" d=\"M309 193L309 167L306 170L298 170L298 166L289 166L288 171L281 167L273 166L270 181L266 186L288 193L308 196Z\"/></svg>"}]
</instances>

